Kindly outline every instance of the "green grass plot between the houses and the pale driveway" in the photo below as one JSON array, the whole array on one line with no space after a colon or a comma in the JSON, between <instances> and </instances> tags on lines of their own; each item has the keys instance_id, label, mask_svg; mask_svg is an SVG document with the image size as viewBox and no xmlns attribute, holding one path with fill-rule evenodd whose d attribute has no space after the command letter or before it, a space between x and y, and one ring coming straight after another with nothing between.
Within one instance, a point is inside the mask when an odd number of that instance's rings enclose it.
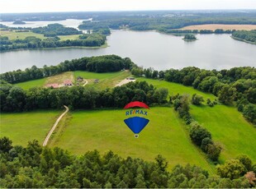
<instances>
[{"instance_id":1,"label":"green grass plot between the houses and the pale driveway","mask_svg":"<svg viewBox=\"0 0 256 189\"><path fill-rule=\"evenodd\" d=\"M82 76L83 79L88 81L88 86L95 86L99 89L106 89L115 87L120 81L130 76L130 71L116 71L108 73L95 73L88 71L74 71L74 76ZM98 79L98 83L94 83Z\"/></svg>"}]
</instances>

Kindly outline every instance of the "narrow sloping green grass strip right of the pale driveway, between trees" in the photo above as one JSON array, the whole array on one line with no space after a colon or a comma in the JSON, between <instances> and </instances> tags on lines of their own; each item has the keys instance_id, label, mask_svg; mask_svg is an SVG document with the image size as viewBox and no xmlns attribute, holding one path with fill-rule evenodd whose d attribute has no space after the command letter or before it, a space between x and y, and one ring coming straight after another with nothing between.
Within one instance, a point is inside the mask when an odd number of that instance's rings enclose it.
<instances>
[{"instance_id":1,"label":"narrow sloping green grass strip right of the pale driveway, between trees","mask_svg":"<svg viewBox=\"0 0 256 189\"><path fill-rule=\"evenodd\" d=\"M197 94L197 95L201 95L203 96L203 98L205 99L217 99L215 95L211 95L211 94L207 94L207 93L203 93L200 90L195 90L194 88L192 88L192 86L184 86L181 84L177 84L177 83L173 83L173 82L168 82L168 81L159 81L159 80L153 80L153 79L147 79L147 78L138 78L137 81L147 81L149 84L154 85L155 87L159 88L159 87L164 87L168 89L169 95L176 95L176 94L187 94L190 95L190 97L193 94Z\"/></svg>"}]
</instances>

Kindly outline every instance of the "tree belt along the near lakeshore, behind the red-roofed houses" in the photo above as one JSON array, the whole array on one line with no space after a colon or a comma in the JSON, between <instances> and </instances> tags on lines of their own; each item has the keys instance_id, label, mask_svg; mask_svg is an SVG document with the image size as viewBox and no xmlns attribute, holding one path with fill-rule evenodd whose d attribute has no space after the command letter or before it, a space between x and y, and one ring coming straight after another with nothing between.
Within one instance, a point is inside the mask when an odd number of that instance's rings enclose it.
<instances>
[{"instance_id":1,"label":"tree belt along the near lakeshore, behind the red-roofed houses","mask_svg":"<svg viewBox=\"0 0 256 189\"><path fill-rule=\"evenodd\" d=\"M131 62L130 58L121 58L116 55L103 55L91 58L78 58L71 61L65 60L64 62L60 62L57 66L44 66L42 68L33 66L31 68L26 68L25 71L8 71L0 74L0 79L14 84L47 76L55 76L64 71L110 72L131 69L134 66L135 63Z\"/></svg>"}]
</instances>

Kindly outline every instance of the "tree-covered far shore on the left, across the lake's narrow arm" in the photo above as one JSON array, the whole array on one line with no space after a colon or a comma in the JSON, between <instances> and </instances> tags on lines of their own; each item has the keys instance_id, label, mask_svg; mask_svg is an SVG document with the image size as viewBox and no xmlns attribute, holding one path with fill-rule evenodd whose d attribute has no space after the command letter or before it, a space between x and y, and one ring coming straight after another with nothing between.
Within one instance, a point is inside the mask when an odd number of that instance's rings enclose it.
<instances>
[{"instance_id":1,"label":"tree-covered far shore on the left, across the lake's narrow arm","mask_svg":"<svg viewBox=\"0 0 256 189\"><path fill-rule=\"evenodd\" d=\"M35 36L29 36L26 39L9 39L7 36L0 36L0 52L21 48L100 47L106 43L106 35L97 33L87 35L86 38L66 40L60 40L58 36L54 36L47 39Z\"/></svg>"}]
</instances>

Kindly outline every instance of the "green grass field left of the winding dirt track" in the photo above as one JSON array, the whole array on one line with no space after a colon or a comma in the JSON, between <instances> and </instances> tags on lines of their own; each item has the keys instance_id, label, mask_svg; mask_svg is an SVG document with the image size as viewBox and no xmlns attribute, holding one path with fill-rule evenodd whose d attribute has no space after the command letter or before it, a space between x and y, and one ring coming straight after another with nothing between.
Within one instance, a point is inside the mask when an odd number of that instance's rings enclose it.
<instances>
[{"instance_id":1,"label":"green grass field left of the winding dirt track","mask_svg":"<svg viewBox=\"0 0 256 189\"><path fill-rule=\"evenodd\" d=\"M9 137L13 145L26 146L28 141L38 140L42 145L60 111L45 110L29 113L1 113L0 137Z\"/></svg>"}]
</instances>

